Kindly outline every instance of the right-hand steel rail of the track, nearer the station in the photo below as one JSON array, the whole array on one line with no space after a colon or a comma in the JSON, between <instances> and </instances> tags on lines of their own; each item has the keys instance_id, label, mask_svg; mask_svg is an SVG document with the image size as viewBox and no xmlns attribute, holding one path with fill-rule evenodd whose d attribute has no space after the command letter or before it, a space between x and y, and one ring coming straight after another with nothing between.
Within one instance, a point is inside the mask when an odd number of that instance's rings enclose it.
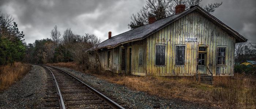
<instances>
[{"instance_id":1,"label":"right-hand steel rail of the track, nearer the station","mask_svg":"<svg viewBox=\"0 0 256 109\"><path fill-rule=\"evenodd\" d=\"M38 65L43 65L43 64L38 64ZM52 68L55 68L55 69L58 69L58 70L61 70L62 72L68 74L69 76L75 78L76 80L78 80L79 82L81 82L82 84L86 85L91 91L93 91L95 94L97 94L99 97L103 98L106 102L108 102L111 106L113 106L114 108L116 109L125 109L123 108L122 106L120 106L119 104L117 104L116 102L114 102L113 100L111 100L110 98L108 98L107 96L105 96L104 94L100 93L99 91L95 90L94 88L92 88L91 86L87 85L86 83L84 83L83 81L79 80L78 78L76 78L75 76L69 74L68 72L62 70L62 69L59 69L59 68L56 68L54 66L50 66L50 65L44 65L44 66L49 66L49 67L52 67Z\"/></svg>"}]
</instances>

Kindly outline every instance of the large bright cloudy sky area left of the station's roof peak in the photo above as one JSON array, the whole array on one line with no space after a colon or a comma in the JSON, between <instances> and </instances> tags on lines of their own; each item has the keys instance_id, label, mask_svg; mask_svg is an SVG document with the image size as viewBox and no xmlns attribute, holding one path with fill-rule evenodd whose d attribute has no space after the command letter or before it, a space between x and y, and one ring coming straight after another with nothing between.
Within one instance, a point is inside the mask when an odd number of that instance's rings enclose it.
<instances>
[{"instance_id":1,"label":"large bright cloudy sky area left of the station's roof peak","mask_svg":"<svg viewBox=\"0 0 256 109\"><path fill-rule=\"evenodd\" d=\"M130 15L137 12L144 1L123 0L7 0L0 1L0 9L15 17L25 33L25 41L50 37L57 25L63 33L66 28L79 35L92 33L102 40L125 32Z\"/></svg>"}]
</instances>

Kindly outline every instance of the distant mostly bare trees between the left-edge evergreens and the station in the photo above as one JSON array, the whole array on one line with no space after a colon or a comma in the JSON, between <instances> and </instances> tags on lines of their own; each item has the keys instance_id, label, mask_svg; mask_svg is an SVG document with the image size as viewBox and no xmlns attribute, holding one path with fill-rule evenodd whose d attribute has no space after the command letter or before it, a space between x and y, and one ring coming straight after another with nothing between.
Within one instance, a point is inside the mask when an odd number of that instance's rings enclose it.
<instances>
[{"instance_id":1,"label":"distant mostly bare trees between the left-edge evergreens and the station","mask_svg":"<svg viewBox=\"0 0 256 109\"><path fill-rule=\"evenodd\" d=\"M27 44L24 61L38 64L75 61L86 64L89 63L89 52L86 50L100 42L95 35L76 35L71 28L67 28L61 35L57 25L50 32L50 37Z\"/></svg>"}]
</instances>

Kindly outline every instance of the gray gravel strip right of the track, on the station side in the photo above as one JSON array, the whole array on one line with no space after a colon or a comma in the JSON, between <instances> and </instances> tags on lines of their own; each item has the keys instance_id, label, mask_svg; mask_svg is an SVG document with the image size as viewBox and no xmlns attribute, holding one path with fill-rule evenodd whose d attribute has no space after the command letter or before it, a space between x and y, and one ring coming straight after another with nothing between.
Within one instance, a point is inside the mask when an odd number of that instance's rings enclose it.
<instances>
[{"instance_id":1,"label":"gray gravel strip right of the track, on the station side","mask_svg":"<svg viewBox=\"0 0 256 109\"><path fill-rule=\"evenodd\" d=\"M59 67L56 67L59 68ZM135 109L152 109L152 108L161 108L161 109L205 109L213 108L208 105L196 104L191 101L181 100L179 98L165 99L157 96L152 96L144 92L131 90L123 85L118 85L110 83L108 81L102 80L96 76L90 74L85 74L78 72L76 70L68 68L60 68L72 74L73 76L79 78L86 84L89 84L93 88L111 94L116 97L118 100L127 104L130 108Z\"/></svg>"}]
</instances>

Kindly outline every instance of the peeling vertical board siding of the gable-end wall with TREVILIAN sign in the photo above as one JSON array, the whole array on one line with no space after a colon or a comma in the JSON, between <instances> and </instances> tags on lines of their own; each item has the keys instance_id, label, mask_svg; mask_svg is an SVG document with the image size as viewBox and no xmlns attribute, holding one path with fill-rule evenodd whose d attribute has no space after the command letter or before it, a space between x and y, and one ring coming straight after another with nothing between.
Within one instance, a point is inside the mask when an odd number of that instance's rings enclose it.
<instances>
[{"instance_id":1,"label":"peeling vertical board siding of the gable-end wall with TREVILIAN sign","mask_svg":"<svg viewBox=\"0 0 256 109\"><path fill-rule=\"evenodd\" d=\"M197 38L196 42L185 38ZM232 76L235 39L194 11L146 38L147 74L160 76L193 76L196 74L198 45L207 46L207 67L213 75ZM155 45L166 45L165 65L155 65ZM185 45L185 65L175 65L175 47ZM217 48L226 47L226 65L217 65ZM144 71L143 71L144 72ZM209 70L207 70L209 74Z\"/></svg>"}]
</instances>

